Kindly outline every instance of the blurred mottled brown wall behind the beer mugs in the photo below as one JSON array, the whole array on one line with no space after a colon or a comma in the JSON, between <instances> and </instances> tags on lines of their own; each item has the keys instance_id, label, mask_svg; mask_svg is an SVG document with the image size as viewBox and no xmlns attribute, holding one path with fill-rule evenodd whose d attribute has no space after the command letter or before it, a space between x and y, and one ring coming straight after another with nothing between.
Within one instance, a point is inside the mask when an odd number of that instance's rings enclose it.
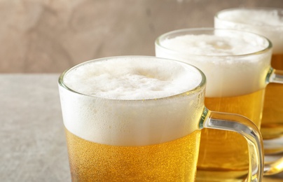
<instances>
[{"instance_id":1,"label":"blurred mottled brown wall behind the beer mugs","mask_svg":"<svg viewBox=\"0 0 283 182\"><path fill-rule=\"evenodd\" d=\"M213 27L224 8L282 0L0 0L0 73L60 73L99 57L154 55L174 29Z\"/></svg>"}]
</instances>

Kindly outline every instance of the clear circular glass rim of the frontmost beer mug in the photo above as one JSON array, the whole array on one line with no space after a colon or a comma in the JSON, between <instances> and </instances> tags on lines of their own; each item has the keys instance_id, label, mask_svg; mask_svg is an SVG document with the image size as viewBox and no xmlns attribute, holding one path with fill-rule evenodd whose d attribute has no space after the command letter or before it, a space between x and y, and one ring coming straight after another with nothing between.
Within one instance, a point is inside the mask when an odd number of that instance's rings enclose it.
<instances>
[{"instance_id":1,"label":"clear circular glass rim of the frontmost beer mug","mask_svg":"<svg viewBox=\"0 0 283 182\"><path fill-rule=\"evenodd\" d=\"M84 64L88 64L90 62L99 62L99 61L105 61L107 59L117 59L117 58L123 58L123 57L126 57L126 58L129 58L129 57L144 57L146 59L166 59L168 61L171 61L171 62L178 62L179 64L184 64L186 66L191 66L193 67L196 71L198 71L198 73L200 73L200 76L201 76L201 80L200 80L200 83L198 83L197 86L193 87L192 89L189 89L189 90L186 90L185 92L180 92L179 94L173 94L173 95L170 95L170 96L165 96L165 97L157 97L157 98L152 98L152 99L111 99L111 98L105 98L105 97L97 97L97 96L92 96L90 94L84 94L82 92L78 92L74 89L71 89L66 83L64 83L64 76L67 75L67 73L69 73L69 71L72 71L73 69L76 69L78 66L83 66ZM146 55L123 55L123 56L113 56L113 57L102 57L102 58L97 58L97 59L90 59L86 62L82 62L80 64L76 64L74 66L71 66L69 69L66 69L65 71L63 71L59 78L58 78L58 84L60 85L60 87L64 88L65 90L68 90L69 92L73 92L74 94L80 94L82 96L85 96L85 97L92 97L92 98L97 98L97 99L105 99L105 100L113 100L113 101L120 101L120 102L137 102L137 101L150 101L150 100L160 100L160 99L169 99L169 98L172 98L172 97L178 97L178 96L181 96L181 95L188 95L188 94L193 94L193 93L196 93L196 92L200 92L202 90L203 87L205 87L205 84L206 84L206 76L205 76L205 73L203 73L200 69L198 69L196 66L193 66L191 64L188 64L186 62L181 62L181 61L178 61L178 60L174 60L174 59L167 59L167 58L162 58L162 57L154 57L154 56L146 56Z\"/></svg>"}]
</instances>

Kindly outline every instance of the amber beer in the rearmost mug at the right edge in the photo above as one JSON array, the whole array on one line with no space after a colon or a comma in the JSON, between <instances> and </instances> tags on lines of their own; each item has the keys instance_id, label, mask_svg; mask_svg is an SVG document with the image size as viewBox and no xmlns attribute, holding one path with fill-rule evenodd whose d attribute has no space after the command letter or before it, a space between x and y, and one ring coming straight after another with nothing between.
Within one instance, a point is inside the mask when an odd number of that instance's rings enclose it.
<instances>
[{"instance_id":1,"label":"amber beer in the rearmost mug at the right edge","mask_svg":"<svg viewBox=\"0 0 283 182\"><path fill-rule=\"evenodd\" d=\"M283 55L272 55L271 66L283 70ZM283 136L283 84L269 83L265 88L261 134L263 139Z\"/></svg>"}]
</instances>

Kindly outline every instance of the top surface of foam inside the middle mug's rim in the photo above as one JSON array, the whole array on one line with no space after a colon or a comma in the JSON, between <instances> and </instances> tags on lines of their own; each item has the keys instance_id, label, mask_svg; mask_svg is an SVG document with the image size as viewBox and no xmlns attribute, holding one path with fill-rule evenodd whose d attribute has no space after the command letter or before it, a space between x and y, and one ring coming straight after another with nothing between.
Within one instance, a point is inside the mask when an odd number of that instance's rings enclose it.
<instances>
[{"instance_id":1,"label":"top surface of foam inside the middle mug's rim","mask_svg":"<svg viewBox=\"0 0 283 182\"><path fill-rule=\"evenodd\" d=\"M184 35L168 38L163 46L191 55L246 55L263 50L268 46L261 39L253 40L250 36Z\"/></svg>"}]
</instances>

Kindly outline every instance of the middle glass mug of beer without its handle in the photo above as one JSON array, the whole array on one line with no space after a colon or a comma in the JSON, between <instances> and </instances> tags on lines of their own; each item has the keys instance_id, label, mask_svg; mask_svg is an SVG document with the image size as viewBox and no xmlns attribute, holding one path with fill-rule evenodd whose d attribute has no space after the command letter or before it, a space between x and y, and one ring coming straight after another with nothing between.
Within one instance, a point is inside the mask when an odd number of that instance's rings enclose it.
<instances>
[{"instance_id":1,"label":"middle glass mug of beer without its handle","mask_svg":"<svg viewBox=\"0 0 283 182\"><path fill-rule=\"evenodd\" d=\"M205 73L208 109L246 116L258 128L271 55L267 38L245 31L179 29L156 39L157 57L187 62ZM241 181L248 167L247 145L238 134L202 130L197 179Z\"/></svg>"}]
</instances>

